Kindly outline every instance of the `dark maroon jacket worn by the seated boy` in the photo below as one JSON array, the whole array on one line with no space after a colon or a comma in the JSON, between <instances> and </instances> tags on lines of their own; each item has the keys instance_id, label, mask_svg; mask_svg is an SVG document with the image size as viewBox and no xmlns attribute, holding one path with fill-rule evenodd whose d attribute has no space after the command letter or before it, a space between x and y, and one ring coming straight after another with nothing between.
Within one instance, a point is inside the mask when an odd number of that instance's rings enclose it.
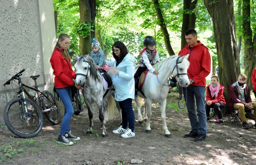
<instances>
[{"instance_id":1,"label":"dark maroon jacket worn by the seated boy","mask_svg":"<svg viewBox=\"0 0 256 165\"><path fill-rule=\"evenodd\" d=\"M232 84L231 87L230 87L230 99L229 99L228 108L231 111L233 111L233 105L235 103L242 103L242 104L245 105L246 103L251 103L252 102L252 99L251 99L251 96L250 96L250 88L247 84L244 84L245 85L245 88L244 88L245 102L242 102L241 100L238 99L239 89L238 89L238 83L237 82Z\"/></svg>"}]
</instances>

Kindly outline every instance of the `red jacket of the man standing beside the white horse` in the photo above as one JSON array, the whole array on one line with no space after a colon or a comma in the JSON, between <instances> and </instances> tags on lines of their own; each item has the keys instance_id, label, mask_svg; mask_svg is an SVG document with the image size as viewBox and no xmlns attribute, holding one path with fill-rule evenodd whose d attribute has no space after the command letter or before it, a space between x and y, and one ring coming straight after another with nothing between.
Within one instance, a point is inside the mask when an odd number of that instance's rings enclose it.
<instances>
[{"instance_id":1,"label":"red jacket of the man standing beside the white horse","mask_svg":"<svg viewBox=\"0 0 256 165\"><path fill-rule=\"evenodd\" d=\"M183 47L179 55L185 56L190 54L188 60L190 62L188 68L188 78L193 79L194 83L190 85L206 86L205 77L210 74L211 70L211 58L208 48L197 41L197 45L193 46L190 50L190 46L186 45Z\"/></svg>"}]
</instances>

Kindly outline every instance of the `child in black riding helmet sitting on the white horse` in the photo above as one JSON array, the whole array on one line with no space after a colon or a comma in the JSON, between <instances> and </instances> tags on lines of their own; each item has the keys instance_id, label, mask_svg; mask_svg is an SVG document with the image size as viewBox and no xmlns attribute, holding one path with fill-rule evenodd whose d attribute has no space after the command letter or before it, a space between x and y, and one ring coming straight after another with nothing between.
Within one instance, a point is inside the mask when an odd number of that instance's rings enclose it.
<instances>
[{"instance_id":1,"label":"child in black riding helmet sitting on the white horse","mask_svg":"<svg viewBox=\"0 0 256 165\"><path fill-rule=\"evenodd\" d=\"M143 72L145 72L148 69L150 72L154 74L159 74L159 72L152 67L152 65L154 65L155 63L160 62L159 54L155 48L156 40L152 36L147 36L143 40L143 45L145 46L145 48L141 51L139 67L134 75L135 97L137 96L136 89L138 87L139 77Z\"/></svg>"}]
</instances>

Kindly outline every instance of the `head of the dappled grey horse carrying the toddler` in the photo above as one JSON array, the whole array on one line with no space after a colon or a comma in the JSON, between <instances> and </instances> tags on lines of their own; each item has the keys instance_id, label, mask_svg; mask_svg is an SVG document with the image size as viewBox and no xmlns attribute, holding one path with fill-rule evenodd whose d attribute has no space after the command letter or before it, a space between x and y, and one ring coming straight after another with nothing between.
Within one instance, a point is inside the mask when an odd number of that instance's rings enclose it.
<instances>
[{"instance_id":1,"label":"head of the dappled grey horse carrying the toddler","mask_svg":"<svg viewBox=\"0 0 256 165\"><path fill-rule=\"evenodd\" d=\"M84 86L86 83L88 83L90 77L97 81L97 69L94 60L89 55L79 57L76 54L76 57L76 84L79 86Z\"/></svg>"}]
</instances>

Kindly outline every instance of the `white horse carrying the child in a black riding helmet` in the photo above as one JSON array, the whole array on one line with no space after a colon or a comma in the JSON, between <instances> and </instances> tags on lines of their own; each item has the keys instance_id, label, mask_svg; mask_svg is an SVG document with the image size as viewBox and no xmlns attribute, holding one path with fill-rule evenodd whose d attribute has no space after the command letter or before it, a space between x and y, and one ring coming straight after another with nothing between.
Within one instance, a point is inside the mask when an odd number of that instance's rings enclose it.
<instances>
[{"instance_id":1,"label":"white horse carrying the child in a black riding helmet","mask_svg":"<svg viewBox=\"0 0 256 165\"><path fill-rule=\"evenodd\" d=\"M161 118L163 121L163 133L166 137L171 138L171 133L168 131L166 125L166 115L165 115L165 107L166 107L166 97L169 92L168 86L168 78L171 75L174 75L179 84L183 87L187 87L190 82L187 76L187 69L189 67L189 61L187 60L189 55L180 57L180 56L170 56L160 63L158 63L158 75L155 75L151 72L148 73L147 78L144 82L142 92L138 92L138 96L146 99L145 101L145 110L147 112L147 124L146 124L146 132L151 133L150 128L150 118L152 116L151 105L153 103L159 103L161 110ZM135 102L138 108L138 120L139 122L143 122L143 118L141 115L141 103L139 98L135 98ZM144 112L144 114L146 114Z\"/></svg>"}]
</instances>

